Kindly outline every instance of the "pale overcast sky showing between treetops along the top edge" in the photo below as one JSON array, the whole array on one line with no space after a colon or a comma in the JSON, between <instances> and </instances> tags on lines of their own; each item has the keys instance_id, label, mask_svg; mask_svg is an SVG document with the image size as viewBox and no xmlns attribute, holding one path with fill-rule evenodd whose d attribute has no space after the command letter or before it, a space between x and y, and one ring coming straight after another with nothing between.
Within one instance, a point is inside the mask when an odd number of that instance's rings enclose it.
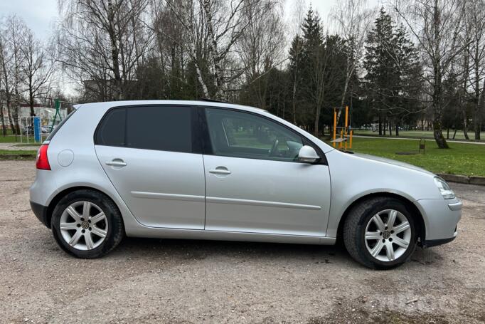
<instances>
[{"instance_id":1,"label":"pale overcast sky showing between treetops along the top edge","mask_svg":"<svg viewBox=\"0 0 485 324\"><path fill-rule=\"evenodd\" d=\"M290 20L296 0L286 0L284 14ZM326 23L331 8L339 0L306 0L307 8L311 6L319 11ZM383 0L368 0L369 6L382 3ZM58 0L0 0L0 18L10 14L20 16L38 38L46 40L52 33L53 23L58 19ZM325 26L326 29L326 26Z\"/></svg>"}]
</instances>

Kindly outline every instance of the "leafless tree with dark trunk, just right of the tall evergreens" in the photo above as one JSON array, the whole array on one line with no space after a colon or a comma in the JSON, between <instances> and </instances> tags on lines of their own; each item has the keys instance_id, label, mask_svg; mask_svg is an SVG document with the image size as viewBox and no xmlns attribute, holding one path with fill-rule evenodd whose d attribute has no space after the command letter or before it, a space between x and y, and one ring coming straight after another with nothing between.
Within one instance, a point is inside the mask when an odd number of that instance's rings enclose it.
<instances>
[{"instance_id":1,"label":"leafless tree with dark trunk, just right of the tall evergreens","mask_svg":"<svg viewBox=\"0 0 485 324\"><path fill-rule=\"evenodd\" d=\"M448 148L442 134L444 109L443 78L467 44L459 41L463 26L464 1L396 1L394 9L417 39L427 66L427 82L432 88L433 135L439 148Z\"/></svg>"}]
</instances>

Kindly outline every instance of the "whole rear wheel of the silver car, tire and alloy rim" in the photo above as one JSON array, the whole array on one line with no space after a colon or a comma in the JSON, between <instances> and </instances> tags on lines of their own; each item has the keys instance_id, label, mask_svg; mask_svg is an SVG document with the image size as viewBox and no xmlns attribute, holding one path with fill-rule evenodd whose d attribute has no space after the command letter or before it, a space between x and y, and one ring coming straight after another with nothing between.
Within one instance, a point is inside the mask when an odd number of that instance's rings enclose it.
<instances>
[{"instance_id":1,"label":"whole rear wheel of the silver car, tire and alloy rim","mask_svg":"<svg viewBox=\"0 0 485 324\"><path fill-rule=\"evenodd\" d=\"M97 258L122 240L122 216L109 197L92 190L67 194L55 207L51 228L59 246L78 258Z\"/></svg>"}]
</instances>

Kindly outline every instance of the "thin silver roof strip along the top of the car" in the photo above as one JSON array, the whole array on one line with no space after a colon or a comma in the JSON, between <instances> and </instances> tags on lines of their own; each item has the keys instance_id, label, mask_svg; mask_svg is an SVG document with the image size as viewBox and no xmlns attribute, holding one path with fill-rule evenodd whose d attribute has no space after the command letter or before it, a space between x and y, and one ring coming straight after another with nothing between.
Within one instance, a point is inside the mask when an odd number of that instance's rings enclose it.
<instances>
[{"instance_id":1,"label":"thin silver roof strip along the top of the car","mask_svg":"<svg viewBox=\"0 0 485 324\"><path fill-rule=\"evenodd\" d=\"M198 105L207 107L221 107L237 110L246 110L256 113L266 112L266 110L250 107L246 105L236 105L233 103L221 103L217 101L203 101L203 100L125 100L125 101L105 101L102 103L83 103L76 105L76 109L82 108L112 108L123 107L129 105Z\"/></svg>"}]
</instances>

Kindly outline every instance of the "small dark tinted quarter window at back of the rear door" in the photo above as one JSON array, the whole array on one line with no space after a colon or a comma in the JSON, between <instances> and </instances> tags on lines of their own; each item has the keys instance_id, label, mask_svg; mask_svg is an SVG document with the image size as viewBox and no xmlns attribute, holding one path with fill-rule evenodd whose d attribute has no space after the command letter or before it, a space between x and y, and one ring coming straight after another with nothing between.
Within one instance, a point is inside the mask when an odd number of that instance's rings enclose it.
<instances>
[{"instance_id":1,"label":"small dark tinted quarter window at back of the rear door","mask_svg":"<svg viewBox=\"0 0 485 324\"><path fill-rule=\"evenodd\" d=\"M110 110L103 118L96 133L96 144L124 146L126 109Z\"/></svg>"}]
</instances>

